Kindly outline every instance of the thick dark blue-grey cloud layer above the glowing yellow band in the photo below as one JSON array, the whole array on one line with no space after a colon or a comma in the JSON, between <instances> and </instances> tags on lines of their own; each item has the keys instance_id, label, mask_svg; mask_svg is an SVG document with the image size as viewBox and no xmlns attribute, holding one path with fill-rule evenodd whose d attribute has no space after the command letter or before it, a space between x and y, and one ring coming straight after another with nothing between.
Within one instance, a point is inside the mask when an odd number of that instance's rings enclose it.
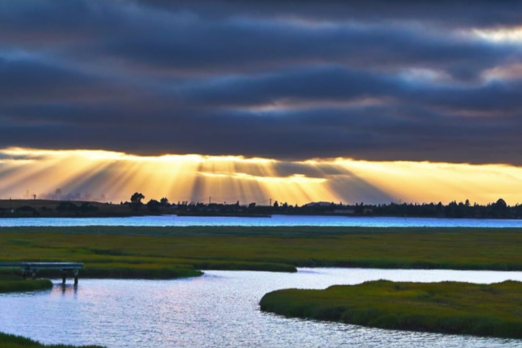
<instances>
[{"instance_id":1,"label":"thick dark blue-grey cloud layer above the glowing yellow band","mask_svg":"<svg viewBox=\"0 0 522 348\"><path fill-rule=\"evenodd\" d=\"M0 147L522 164L522 4L0 3Z\"/></svg>"}]
</instances>

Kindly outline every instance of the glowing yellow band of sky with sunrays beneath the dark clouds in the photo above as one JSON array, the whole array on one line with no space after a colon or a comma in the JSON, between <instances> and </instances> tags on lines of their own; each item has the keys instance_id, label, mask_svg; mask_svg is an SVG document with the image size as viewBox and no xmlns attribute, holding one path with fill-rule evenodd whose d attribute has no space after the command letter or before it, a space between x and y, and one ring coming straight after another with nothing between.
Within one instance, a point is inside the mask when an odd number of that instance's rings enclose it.
<instances>
[{"instance_id":1,"label":"glowing yellow band of sky with sunrays beneath the dark clouds","mask_svg":"<svg viewBox=\"0 0 522 348\"><path fill-rule=\"evenodd\" d=\"M507 164L309 159L282 161L243 156L137 156L105 150L0 149L0 198L29 191L50 198L77 194L93 200L227 202L267 205L335 203L519 203L522 168ZM87 196L89 197L89 196Z\"/></svg>"}]
</instances>

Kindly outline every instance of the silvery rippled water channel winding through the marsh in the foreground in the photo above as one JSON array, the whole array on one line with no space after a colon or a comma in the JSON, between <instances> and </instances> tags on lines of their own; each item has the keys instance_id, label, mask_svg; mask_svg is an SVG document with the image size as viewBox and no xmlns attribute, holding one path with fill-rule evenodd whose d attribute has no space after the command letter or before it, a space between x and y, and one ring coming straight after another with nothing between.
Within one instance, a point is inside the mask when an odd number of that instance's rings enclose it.
<instances>
[{"instance_id":1,"label":"silvery rippled water channel winding through the marsh in the foreground","mask_svg":"<svg viewBox=\"0 0 522 348\"><path fill-rule=\"evenodd\" d=\"M207 271L184 280L87 280L75 289L0 295L0 331L44 343L118 347L522 347L522 340L369 329L261 313L266 292L376 279L522 280L522 272L299 269Z\"/></svg>"}]
</instances>

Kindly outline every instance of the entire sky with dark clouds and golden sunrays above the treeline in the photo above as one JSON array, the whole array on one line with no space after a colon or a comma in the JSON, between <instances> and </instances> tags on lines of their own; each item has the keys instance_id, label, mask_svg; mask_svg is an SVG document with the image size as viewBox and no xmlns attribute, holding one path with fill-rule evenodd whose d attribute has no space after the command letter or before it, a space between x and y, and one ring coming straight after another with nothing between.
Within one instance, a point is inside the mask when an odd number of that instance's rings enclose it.
<instances>
[{"instance_id":1,"label":"entire sky with dark clouds and golden sunrays above the treeline","mask_svg":"<svg viewBox=\"0 0 522 348\"><path fill-rule=\"evenodd\" d=\"M0 198L522 202L520 13L0 1Z\"/></svg>"}]
</instances>

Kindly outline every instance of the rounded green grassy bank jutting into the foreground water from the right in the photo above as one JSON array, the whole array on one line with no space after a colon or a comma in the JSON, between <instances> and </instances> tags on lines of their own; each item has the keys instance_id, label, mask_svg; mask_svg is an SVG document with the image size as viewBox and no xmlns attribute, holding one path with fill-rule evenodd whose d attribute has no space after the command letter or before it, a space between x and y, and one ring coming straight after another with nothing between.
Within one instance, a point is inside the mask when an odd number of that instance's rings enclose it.
<instances>
[{"instance_id":1,"label":"rounded green grassy bank jutting into the foreground water from the right","mask_svg":"<svg viewBox=\"0 0 522 348\"><path fill-rule=\"evenodd\" d=\"M278 290L261 310L381 329L522 338L522 283L393 283Z\"/></svg>"}]
</instances>

